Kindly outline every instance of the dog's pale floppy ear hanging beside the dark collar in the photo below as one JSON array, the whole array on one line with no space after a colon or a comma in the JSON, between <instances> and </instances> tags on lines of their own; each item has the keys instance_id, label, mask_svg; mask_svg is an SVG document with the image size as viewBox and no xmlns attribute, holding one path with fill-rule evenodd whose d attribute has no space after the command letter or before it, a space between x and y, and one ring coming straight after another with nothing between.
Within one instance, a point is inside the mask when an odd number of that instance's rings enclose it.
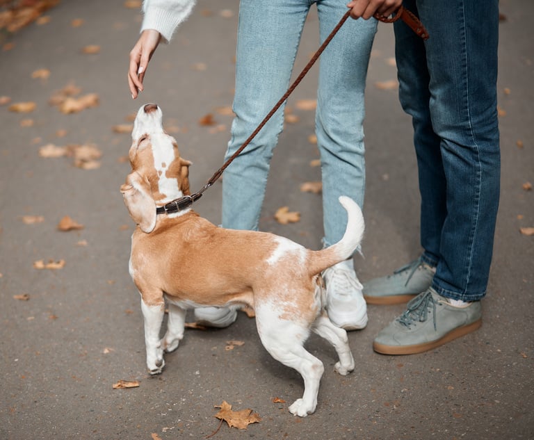
<instances>
[{"instance_id":1,"label":"dog's pale floppy ear hanging beside the dark collar","mask_svg":"<svg viewBox=\"0 0 534 440\"><path fill-rule=\"evenodd\" d=\"M152 198L150 184L138 172L128 174L126 183L120 187L124 204L130 217L147 234L156 226L156 202Z\"/></svg>"}]
</instances>

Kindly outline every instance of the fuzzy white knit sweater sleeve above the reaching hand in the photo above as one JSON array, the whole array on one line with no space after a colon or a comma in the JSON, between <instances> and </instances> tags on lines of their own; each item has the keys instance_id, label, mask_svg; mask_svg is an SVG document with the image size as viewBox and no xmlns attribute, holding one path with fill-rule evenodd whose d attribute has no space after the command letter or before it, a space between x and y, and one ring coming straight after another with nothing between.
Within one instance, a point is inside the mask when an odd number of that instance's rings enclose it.
<instances>
[{"instance_id":1,"label":"fuzzy white knit sweater sleeve above the reaching hand","mask_svg":"<svg viewBox=\"0 0 534 440\"><path fill-rule=\"evenodd\" d=\"M170 41L179 24L191 14L193 6L195 0L144 0L141 32L155 29Z\"/></svg>"}]
</instances>

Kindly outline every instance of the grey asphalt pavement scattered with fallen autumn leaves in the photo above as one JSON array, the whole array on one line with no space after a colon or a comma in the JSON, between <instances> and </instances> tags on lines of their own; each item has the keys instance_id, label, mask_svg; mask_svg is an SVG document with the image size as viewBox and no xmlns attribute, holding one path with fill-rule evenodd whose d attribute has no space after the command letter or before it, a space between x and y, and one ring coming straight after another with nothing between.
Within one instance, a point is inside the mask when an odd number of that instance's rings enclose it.
<instances>
[{"instance_id":1,"label":"grey asphalt pavement scattered with fallen autumn leaves","mask_svg":"<svg viewBox=\"0 0 534 440\"><path fill-rule=\"evenodd\" d=\"M126 72L140 14L126 5L61 1L0 47L0 97L10 98L0 98L0 439L533 439L534 3L500 2L502 187L483 326L421 355L378 355L375 334L403 306L369 306L369 325L349 334L354 373L334 373L334 350L309 339L325 374L307 418L287 411L302 393L300 376L268 355L245 313L227 329L188 329L163 374L147 373L128 273L133 222L119 191L131 115L146 102L163 108L200 189L229 138L238 1L199 0L156 52L136 101ZM312 8L295 73L317 41ZM412 125L395 79L391 25L379 24L366 92L362 280L421 252ZM261 229L317 249L321 195L300 190L320 179L310 165L314 113L298 106L315 90L316 67L289 100ZM10 111L20 103L35 108ZM199 122L207 115L213 124ZM300 212L300 222L277 223L280 206ZM195 210L219 222L220 184ZM65 216L72 222L62 231ZM113 389L120 380L138 386ZM218 430L223 401L261 421Z\"/></svg>"}]
</instances>

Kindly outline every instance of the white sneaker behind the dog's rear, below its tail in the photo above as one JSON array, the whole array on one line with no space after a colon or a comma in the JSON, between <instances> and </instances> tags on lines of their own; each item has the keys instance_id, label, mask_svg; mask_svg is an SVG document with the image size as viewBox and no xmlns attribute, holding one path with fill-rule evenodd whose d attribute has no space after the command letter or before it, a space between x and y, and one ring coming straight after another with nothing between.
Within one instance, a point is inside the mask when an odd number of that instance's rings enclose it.
<instances>
[{"instance_id":1,"label":"white sneaker behind the dog's rear, below its tail","mask_svg":"<svg viewBox=\"0 0 534 440\"><path fill-rule=\"evenodd\" d=\"M367 304L353 260L341 261L323 272L326 284L326 310L338 327L359 330L367 325Z\"/></svg>"}]
</instances>

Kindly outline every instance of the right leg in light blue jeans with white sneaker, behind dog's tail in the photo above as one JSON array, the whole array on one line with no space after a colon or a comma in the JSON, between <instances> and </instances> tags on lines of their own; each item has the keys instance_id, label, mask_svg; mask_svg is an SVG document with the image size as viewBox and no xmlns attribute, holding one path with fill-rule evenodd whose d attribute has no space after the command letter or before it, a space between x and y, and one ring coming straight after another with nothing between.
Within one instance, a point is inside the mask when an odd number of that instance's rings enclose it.
<instances>
[{"instance_id":1,"label":"right leg in light blue jeans with white sneaker, behind dog's tail","mask_svg":"<svg viewBox=\"0 0 534 440\"><path fill-rule=\"evenodd\" d=\"M346 2L317 2L321 42L346 13ZM323 243L332 245L346 228L346 212L337 202L348 195L364 203L364 90L374 19L349 19L321 55L317 93L316 134L323 180ZM366 304L353 260L325 270L327 310L332 322L345 329L367 324Z\"/></svg>"}]
</instances>

